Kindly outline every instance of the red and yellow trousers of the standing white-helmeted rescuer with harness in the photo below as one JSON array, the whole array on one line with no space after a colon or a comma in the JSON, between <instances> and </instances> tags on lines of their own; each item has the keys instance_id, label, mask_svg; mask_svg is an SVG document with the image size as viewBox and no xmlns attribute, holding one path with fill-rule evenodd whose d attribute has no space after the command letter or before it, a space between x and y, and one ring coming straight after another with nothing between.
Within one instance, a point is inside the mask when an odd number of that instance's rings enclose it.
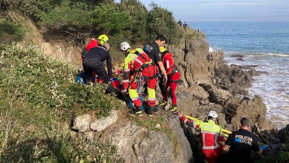
<instances>
[{"instance_id":1,"label":"red and yellow trousers of the standing white-helmeted rescuer with harness","mask_svg":"<svg viewBox=\"0 0 289 163\"><path fill-rule=\"evenodd\" d=\"M156 74L158 73L158 68L154 65L151 65L149 67L146 67L142 70L141 75L145 79L143 82L147 82L147 91L149 94L149 97L147 99L147 105L150 107L154 107L156 103ZM154 77L155 76L155 77ZM154 78L153 78L154 77ZM152 79L150 79L152 78ZM130 78L131 79L131 78ZM129 96L135 106L142 105L142 102L139 98L139 95L137 93L137 85L138 85L139 79L135 79L130 82L130 87L128 89ZM144 83L142 83L144 84Z\"/></svg>"}]
</instances>

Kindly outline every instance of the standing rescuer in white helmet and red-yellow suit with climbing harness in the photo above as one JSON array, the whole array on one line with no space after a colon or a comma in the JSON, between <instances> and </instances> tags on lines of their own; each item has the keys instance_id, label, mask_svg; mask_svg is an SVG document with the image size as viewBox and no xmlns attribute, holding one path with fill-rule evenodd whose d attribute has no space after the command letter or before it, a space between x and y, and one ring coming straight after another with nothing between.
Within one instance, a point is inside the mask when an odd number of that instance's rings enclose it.
<instances>
[{"instance_id":1,"label":"standing rescuer in white helmet and red-yellow suit with climbing harness","mask_svg":"<svg viewBox=\"0 0 289 163\"><path fill-rule=\"evenodd\" d=\"M124 90L122 92L126 92L128 89L129 96L135 104L135 111L130 112L130 114L143 115L142 102L137 93L137 87L146 82L149 94L147 114L151 117L156 103L155 87L158 68L141 48L131 49L127 42L123 42L120 44L120 50L125 54L123 63Z\"/></svg>"}]
</instances>

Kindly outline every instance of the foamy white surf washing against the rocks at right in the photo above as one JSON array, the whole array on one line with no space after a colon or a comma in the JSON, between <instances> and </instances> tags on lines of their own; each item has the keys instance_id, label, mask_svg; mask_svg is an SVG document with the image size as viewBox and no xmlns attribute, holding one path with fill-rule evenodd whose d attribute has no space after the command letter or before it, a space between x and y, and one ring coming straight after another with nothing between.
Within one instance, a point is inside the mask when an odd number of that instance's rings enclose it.
<instances>
[{"instance_id":1,"label":"foamy white surf washing against the rocks at right","mask_svg":"<svg viewBox=\"0 0 289 163\"><path fill-rule=\"evenodd\" d=\"M239 52L244 56L244 61L230 57L234 53L226 53L224 60L228 65L258 65L257 71L266 71L269 74L255 76L252 87L249 88L250 98L255 94L263 97L267 106L267 117L280 129L289 123L289 55L269 55L263 52ZM272 53L270 53L272 54ZM278 54L278 53L277 53ZM285 55L285 54L279 54ZM257 58L257 59L256 59Z\"/></svg>"}]
</instances>

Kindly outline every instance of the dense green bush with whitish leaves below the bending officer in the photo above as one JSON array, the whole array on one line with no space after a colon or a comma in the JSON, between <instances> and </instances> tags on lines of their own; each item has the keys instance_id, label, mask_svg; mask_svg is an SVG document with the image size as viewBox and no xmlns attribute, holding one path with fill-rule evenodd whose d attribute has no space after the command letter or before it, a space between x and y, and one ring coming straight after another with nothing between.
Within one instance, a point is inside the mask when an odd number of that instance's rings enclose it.
<instances>
[{"instance_id":1,"label":"dense green bush with whitish leaves below the bending officer","mask_svg":"<svg viewBox=\"0 0 289 163\"><path fill-rule=\"evenodd\" d=\"M2 61L6 67L0 71L0 88L4 89L9 83L5 91L15 92L17 89L15 96L25 96L26 102L39 107L48 106L51 112L65 118L90 110L102 117L110 110L118 109L120 101L104 95L105 84L88 86L76 83L77 68L65 60L44 55L42 49L35 46L21 48L14 44L8 46L3 55L8 59Z\"/></svg>"}]
</instances>

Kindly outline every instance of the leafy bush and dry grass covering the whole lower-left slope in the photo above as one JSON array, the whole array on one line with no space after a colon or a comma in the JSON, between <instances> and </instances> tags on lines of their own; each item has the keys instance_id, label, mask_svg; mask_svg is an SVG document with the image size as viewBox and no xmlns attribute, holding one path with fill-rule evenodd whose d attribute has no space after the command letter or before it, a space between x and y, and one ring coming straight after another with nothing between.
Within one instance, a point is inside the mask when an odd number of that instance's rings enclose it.
<instances>
[{"instance_id":1,"label":"leafy bush and dry grass covering the whole lower-left slope","mask_svg":"<svg viewBox=\"0 0 289 163\"><path fill-rule=\"evenodd\" d=\"M114 145L70 130L76 115L119 109L105 84L76 83L76 67L36 46L6 46L0 65L0 162L123 162Z\"/></svg>"}]
</instances>

